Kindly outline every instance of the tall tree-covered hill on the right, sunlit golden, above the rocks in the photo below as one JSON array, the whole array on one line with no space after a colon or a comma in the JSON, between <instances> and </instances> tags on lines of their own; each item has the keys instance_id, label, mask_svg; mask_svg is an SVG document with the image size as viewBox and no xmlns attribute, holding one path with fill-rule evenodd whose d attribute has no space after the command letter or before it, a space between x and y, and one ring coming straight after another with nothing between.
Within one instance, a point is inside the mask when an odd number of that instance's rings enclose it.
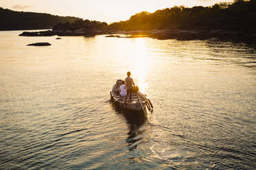
<instances>
[{"instance_id":1,"label":"tall tree-covered hill on the right, sunlit golden, above the rocks","mask_svg":"<svg viewBox=\"0 0 256 170\"><path fill-rule=\"evenodd\" d=\"M213 6L174 6L156 12L140 12L127 21L111 23L109 30L235 29L256 32L256 0L236 0Z\"/></svg>"}]
</instances>

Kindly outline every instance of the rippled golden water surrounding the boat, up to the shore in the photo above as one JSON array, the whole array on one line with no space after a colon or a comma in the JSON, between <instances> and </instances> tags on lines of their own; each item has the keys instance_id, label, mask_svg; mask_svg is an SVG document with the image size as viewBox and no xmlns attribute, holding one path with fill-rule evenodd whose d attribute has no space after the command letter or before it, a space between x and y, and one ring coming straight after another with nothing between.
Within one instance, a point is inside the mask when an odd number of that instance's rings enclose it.
<instances>
[{"instance_id":1,"label":"rippled golden water surrounding the boat, up to the shore","mask_svg":"<svg viewBox=\"0 0 256 170\"><path fill-rule=\"evenodd\" d=\"M20 33L0 32L0 169L256 169L255 46ZM109 101L127 71L148 120Z\"/></svg>"}]
</instances>

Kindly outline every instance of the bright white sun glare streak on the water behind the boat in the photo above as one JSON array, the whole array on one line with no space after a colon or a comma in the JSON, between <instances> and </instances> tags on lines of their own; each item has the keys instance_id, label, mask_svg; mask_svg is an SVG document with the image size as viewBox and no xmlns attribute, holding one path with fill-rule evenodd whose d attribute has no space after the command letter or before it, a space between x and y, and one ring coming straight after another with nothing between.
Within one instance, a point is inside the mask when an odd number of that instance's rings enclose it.
<instances>
[{"instance_id":1,"label":"bright white sun glare streak on the water behind the boat","mask_svg":"<svg viewBox=\"0 0 256 170\"><path fill-rule=\"evenodd\" d=\"M147 73L149 71L149 54L147 53L147 45L145 38L136 38L134 51L131 53L131 60L133 61L132 74L136 79L136 85L139 86L142 92L148 87Z\"/></svg>"}]
</instances>

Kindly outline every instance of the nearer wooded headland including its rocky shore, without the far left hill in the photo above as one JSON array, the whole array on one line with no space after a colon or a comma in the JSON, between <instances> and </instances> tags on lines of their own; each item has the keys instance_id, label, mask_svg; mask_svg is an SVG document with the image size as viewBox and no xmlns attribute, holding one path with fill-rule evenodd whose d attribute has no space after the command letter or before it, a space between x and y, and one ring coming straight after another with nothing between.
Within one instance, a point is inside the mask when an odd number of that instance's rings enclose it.
<instances>
[{"instance_id":1,"label":"nearer wooded headland including its rocky shore, without the far left hill","mask_svg":"<svg viewBox=\"0 0 256 170\"><path fill-rule=\"evenodd\" d=\"M140 12L127 21L109 25L83 19L56 23L50 31L24 32L21 36L129 34L130 36L108 37L147 36L178 40L218 38L256 43L256 0L235 0L233 3L216 3L209 7L174 6L153 13Z\"/></svg>"}]
</instances>

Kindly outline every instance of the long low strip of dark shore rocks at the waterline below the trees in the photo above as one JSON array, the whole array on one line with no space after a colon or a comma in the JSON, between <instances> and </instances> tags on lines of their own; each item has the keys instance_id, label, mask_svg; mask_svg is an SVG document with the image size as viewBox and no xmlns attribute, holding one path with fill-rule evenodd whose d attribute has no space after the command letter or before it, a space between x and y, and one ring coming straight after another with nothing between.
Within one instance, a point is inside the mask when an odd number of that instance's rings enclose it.
<instances>
[{"instance_id":1,"label":"long low strip of dark shore rocks at the waterline below the trees","mask_svg":"<svg viewBox=\"0 0 256 170\"><path fill-rule=\"evenodd\" d=\"M23 32L19 36L96 36L100 34L107 34L106 37L116 38L136 38L136 37L149 37L159 40L176 39L176 40L207 40L210 38L217 38L217 40L227 40L235 42L247 42L256 44L256 34L244 33L233 30L204 30L204 29L154 29L151 31L110 31L110 32L90 32L86 34L82 29L67 30L63 32L56 32L54 30L47 30L44 32ZM125 34L120 36L116 34Z\"/></svg>"}]
</instances>

